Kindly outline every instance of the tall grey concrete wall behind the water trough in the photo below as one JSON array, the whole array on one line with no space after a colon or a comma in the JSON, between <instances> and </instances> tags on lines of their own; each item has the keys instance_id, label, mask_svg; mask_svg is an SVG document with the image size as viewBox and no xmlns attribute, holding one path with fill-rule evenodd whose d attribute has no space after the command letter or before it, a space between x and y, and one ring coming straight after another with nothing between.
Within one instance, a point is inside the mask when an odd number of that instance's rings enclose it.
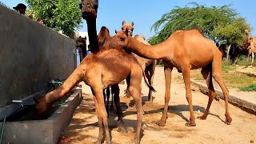
<instances>
[{"instance_id":1,"label":"tall grey concrete wall behind the water trough","mask_svg":"<svg viewBox=\"0 0 256 144\"><path fill-rule=\"evenodd\" d=\"M0 107L67 78L75 63L72 39L0 5Z\"/></svg>"}]
</instances>

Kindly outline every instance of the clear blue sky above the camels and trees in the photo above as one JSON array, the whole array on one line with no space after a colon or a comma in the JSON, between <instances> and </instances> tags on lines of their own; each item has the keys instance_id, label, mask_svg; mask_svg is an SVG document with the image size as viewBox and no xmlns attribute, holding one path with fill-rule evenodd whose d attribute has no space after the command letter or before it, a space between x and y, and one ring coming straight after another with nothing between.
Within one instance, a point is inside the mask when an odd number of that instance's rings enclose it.
<instances>
[{"instance_id":1,"label":"clear blue sky above the camels and trees","mask_svg":"<svg viewBox=\"0 0 256 144\"><path fill-rule=\"evenodd\" d=\"M110 34L114 35L114 30L121 30L122 21L134 22L134 35L142 34L147 38L154 35L154 30L150 30L154 22L162 17L162 14L170 12L175 6L184 7L189 2L197 2L203 6L223 6L231 4L231 8L236 10L242 18L254 29L251 31L256 36L255 0L98 0L97 30L106 26ZM26 4L24 0L0 0L10 8L19 2ZM27 4L26 4L27 5ZM86 21L83 20L82 29L87 31Z\"/></svg>"}]
</instances>

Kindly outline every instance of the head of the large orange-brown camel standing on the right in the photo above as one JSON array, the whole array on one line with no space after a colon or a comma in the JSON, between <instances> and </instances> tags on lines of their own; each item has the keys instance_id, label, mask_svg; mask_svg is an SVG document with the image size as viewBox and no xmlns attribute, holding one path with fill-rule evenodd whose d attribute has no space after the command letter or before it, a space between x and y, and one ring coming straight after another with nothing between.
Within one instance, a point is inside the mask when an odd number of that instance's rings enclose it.
<instances>
[{"instance_id":1,"label":"head of the large orange-brown camel standing on the right","mask_svg":"<svg viewBox=\"0 0 256 144\"><path fill-rule=\"evenodd\" d=\"M117 31L115 30L115 35L110 40L110 46L114 48L125 48L128 45L128 37L129 37L128 29Z\"/></svg>"}]
</instances>

